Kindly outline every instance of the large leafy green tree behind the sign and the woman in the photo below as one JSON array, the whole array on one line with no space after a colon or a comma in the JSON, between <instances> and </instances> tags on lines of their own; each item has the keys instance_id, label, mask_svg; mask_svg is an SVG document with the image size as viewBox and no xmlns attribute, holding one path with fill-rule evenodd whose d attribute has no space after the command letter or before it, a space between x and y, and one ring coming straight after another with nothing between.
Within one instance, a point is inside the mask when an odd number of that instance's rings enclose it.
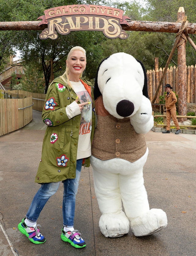
<instances>
[{"instance_id":1,"label":"large leafy green tree behind the sign and the woman","mask_svg":"<svg viewBox=\"0 0 196 256\"><path fill-rule=\"evenodd\" d=\"M71 5L71 4L98 4L99 1L64 1L64 0L1 0L5 3L1 5L0 11L4 11L4 6L7 15L2 17L4 21L23 21L36 20L43 15L43 11L54 6ZM87 51L87 60L90 64L86 69L88 78L92 78L96 73L98 60L101 59L100 44L106 40L102 32L71 32L66 36L59 35L56 40L40 40L40 31L12 31L12 36L15 40L12 46L15 46L21 51L25 63L30 63L36 60L41 63L44 78L45 88L47 88L51 78L51 59L53 60L53 72L58 75L59 71L65 70L66 56L73 46L80 45ZM88 59L89 57L89 59ZM31 67L32 65L26 65Z\"/></svg>"}]
</instances>

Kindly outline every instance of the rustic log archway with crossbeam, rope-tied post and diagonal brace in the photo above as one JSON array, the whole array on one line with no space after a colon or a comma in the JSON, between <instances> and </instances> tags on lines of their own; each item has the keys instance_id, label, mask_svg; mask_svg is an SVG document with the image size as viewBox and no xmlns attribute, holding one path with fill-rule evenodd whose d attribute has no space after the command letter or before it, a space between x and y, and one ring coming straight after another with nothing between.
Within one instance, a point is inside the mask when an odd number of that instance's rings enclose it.
<instances>
[{"instance_id":1,"label":"rustic log archway with crossbeam, rope-tied post and diagonal brace","mask_svg":"<svg viewBox=\"0 0 196 256\"><path fill-rule=\"evenodd\" d=\"M39 26L40 21L20 21L20 22L0 22L1 30L44 30L47 25L42 24ZM178 47L178 99L179 99L179 115L186 116L187 99L184 97L187 90L186 81L186 40L190 42L194 50L196 50L196 45L191 40L188 34L196 33L196 23L189 23L187 21L187 16L185 16L185 11L183 7L179 7L177 13L177 22L152 22L152 21L132 21L127 20L127 25L122 24L122 29L125 31L144 31L144 32L165 32L165 33L176 33L177 37L173 48L171 50L170 56L165 66L165 71L167 70L169 63L171 61L172 55L175 48ZM163 72L162 77L159 81L159 86L156 89L155 95L153 97L152 103L155 102L156 96L162 85L162 81L165 73ZM183 120L180 120L183 121Z\"/></svg>"}]
</instances>

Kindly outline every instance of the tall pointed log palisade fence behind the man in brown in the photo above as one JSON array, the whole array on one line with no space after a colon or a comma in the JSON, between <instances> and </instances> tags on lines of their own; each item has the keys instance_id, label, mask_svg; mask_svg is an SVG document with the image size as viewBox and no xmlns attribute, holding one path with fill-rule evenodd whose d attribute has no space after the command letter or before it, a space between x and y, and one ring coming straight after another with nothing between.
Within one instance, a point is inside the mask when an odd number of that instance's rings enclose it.
<instances>
[{"instance_id":1,"label":"tall pointed log palisade fence behind the man in brown","mask_svg":"<svg viewBox=\"0 0 196 256\"><path fill-rule=\"evenodd\" d=\"M148 92L149 98L152 102L153 96L155 95L156 89L159 84L159 80L163 73L162 68L155 70L147 70L147 81L148 81ZM173 87L173 92L178 95L178 68L170 67L167 69L166 75L163 80L163 86L160 87L159 93L156 97L155 103L159 103L159 97L164 95L166 84L170 84ZM196 103L196 65L187 67L187 103Z\"/></svg>"}]
</instances>

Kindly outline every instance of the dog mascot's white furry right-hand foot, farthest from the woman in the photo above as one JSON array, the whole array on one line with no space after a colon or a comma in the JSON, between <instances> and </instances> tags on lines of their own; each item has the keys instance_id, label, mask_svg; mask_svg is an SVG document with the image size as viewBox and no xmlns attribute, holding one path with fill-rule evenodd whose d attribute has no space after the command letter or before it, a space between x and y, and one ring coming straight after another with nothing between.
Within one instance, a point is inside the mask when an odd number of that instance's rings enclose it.
<instances>
[{"instance_id":1,"label":"dog mascot's white furry right-hand foot, farthest from the woman","mask_svg":"<svg viewBox=\"0 0 196 256\"><path fill-rule=\"evenodd\" d=\"M161 209L151 209L130 221L131 229L135 236L154 234L166 227L167 224L167 215Z\"/></svg>"}]
</instances>

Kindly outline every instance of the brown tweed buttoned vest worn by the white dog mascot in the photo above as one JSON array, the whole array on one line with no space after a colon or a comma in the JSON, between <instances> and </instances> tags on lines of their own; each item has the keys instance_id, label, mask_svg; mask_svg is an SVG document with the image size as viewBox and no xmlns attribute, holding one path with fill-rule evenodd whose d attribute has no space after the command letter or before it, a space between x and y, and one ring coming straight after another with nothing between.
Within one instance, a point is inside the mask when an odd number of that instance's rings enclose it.
<instances>
[{"instance_id":1,"label":"brown tweed buttoned vest worn by the white dog mascot","mask_svg":"<svg viewBox=\"0 0 196 256\"><path fill-rule=\"evenodd\" d=\"M92 156L101 160L122 158L130 162L140 159L147 146L144 134L135 132L129 118L117 119L104 108L102 96L95 100L97 126Z\"/></svg>"}]
</instances>

